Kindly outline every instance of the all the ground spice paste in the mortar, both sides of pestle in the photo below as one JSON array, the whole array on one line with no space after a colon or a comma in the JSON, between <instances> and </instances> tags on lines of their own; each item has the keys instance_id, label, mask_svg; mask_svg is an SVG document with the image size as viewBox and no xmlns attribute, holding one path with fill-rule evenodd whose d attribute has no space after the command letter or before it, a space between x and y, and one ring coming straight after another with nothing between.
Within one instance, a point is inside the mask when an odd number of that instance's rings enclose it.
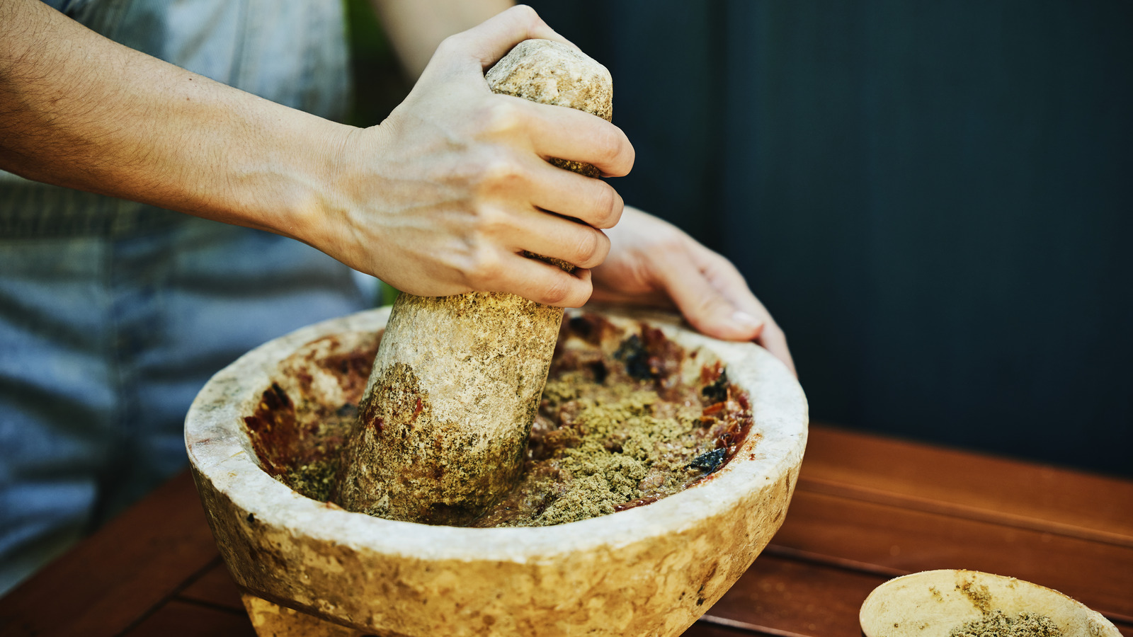
<instances>
[{"instance_id":1,"label":"all the ground spice paste in the mortar, both sides of pestle","mask_svg":"<svg viewBox=\"0 0 1133 637\"><path fill-rule=\"evenodd\" d=\"M372 359L373 351L358 356L367 354ZM531 425L523 475L471 526L577 521L655 502L712 476L749 435L751 408L723 364L706 360L690 377L698 356L706 357L644 323L634 331L596 314L568 317ZM337 370L353 376L364 367ZM360 390L346 392L344 404L312 405L317 401L304 396L310 389L304 380L273 383L245 422L270 474L325 501ZM357 381L341 384L352 390Z\"/></svg>"}]
</instances>

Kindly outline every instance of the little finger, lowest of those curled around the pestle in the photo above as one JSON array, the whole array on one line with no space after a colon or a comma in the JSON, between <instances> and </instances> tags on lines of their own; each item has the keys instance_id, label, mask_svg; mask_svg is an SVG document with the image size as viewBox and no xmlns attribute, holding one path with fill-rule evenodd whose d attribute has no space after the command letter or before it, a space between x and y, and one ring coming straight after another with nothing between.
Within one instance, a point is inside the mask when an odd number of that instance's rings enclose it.
<instances>
[{"instance_id":1,"label":"little finger, lowest of those curled around the pestle","mask_svg":"<svg viewBox=\"0 0 1133 637\"><path fill-rule=\"evenodd\" d=\"M559 307L581 307L593 291L590 271L564 272L557 265L519 254L501 255L500 270L491 281L474 284L474 289L508 292Z\"/></svg>"}]
</instances>

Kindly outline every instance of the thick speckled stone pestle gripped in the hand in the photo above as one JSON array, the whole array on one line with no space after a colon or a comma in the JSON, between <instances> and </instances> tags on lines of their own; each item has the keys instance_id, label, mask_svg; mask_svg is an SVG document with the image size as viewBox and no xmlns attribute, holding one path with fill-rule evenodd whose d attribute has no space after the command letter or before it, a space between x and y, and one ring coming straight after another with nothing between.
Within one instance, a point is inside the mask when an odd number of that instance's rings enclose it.
<instances>
[{"instance_id":1,"label":"thick speckled stone pestle gripped in the hand","mask_svg":"<svg viewBox=\"0 0 1133 637\"><path fill-rule=\"evenodd\" d=\"M612 117L610 71L559 42L521 42L486 79L495 93ZM589 164L551 162L598 176ZM397 520L459 526L476 519L522 469L562 316L560 307L508 294L401 294L332 499Z\"/></svg>"}]
</instances>

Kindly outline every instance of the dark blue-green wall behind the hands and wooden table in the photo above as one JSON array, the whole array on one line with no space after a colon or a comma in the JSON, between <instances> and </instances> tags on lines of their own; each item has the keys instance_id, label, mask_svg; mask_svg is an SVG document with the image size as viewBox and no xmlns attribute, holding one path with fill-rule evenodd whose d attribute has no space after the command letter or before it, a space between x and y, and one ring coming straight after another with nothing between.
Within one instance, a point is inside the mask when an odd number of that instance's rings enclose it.
<instances>
[{"instance_id":1,"label":"dark blue-green wall behind the hands and wooden table","mask_svg":"<svg viewBox=\"0 0 1133 637\"><path fill-rule=\"evenodd\" d=\"M813 419L1133 475L1133 3L531 3Z\"/></svg>"}]
</instances>

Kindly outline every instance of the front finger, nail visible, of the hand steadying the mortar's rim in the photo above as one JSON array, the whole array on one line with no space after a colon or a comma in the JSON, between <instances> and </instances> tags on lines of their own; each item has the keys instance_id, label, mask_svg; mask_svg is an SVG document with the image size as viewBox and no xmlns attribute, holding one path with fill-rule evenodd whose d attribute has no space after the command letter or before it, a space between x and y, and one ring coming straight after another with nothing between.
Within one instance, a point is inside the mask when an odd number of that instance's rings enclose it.
<instances>
[{"instance_id":1,"label":"front finger, nail visible, of the hand steadying the mortar's rim","mask_svg":"<svg viewBox=\"0 0 1133 637\"><path fill-rule=\"evenodd\" d=\"M693 328L718 339L753 340L764 323L738 312L700 271L687 250L673 250L657 263L662 282L681 314Z\"/></svg>"}]
</instances>

